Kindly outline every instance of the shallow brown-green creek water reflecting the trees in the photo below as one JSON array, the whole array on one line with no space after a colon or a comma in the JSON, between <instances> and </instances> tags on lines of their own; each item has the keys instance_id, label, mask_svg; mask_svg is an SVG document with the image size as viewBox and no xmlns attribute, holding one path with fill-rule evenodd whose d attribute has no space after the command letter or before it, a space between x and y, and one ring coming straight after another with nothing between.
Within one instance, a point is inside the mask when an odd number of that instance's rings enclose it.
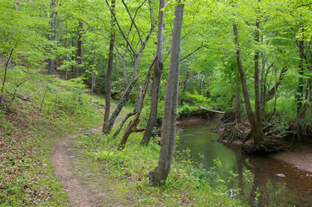
<instances>
[{"instance_id":1,"label":"shallow brown-green creek water reflecting the trees","mask_svg":"<svg viewBox=\"0 0 312 207\"><path fill-rule=\"evenodd\" d=\"M178 123L176 150L190 150L191 158L207 170L218 159L221 165L216 172L226 181L233 199L240 197L250 206L312 206L312 172L267 156L241 154L239 147L216 142L219 135L211 132L214 127L216 122L207 120Z\"/></svg>"}]
</instances>

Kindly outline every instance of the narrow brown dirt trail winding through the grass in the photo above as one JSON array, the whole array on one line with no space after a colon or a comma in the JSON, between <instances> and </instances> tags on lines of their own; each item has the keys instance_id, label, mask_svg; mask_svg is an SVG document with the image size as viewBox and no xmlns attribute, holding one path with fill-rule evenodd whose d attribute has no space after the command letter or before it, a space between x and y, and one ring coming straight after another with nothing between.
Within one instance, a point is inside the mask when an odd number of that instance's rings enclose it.
<instances>
[{"instance_id":1,"label":"narrow brown dirt trail winding through the grass","mask_svg":"<svg viewBox=\"0 0 312 207\"><path fill-rule=\"evenodd\" d=\"M100 132L101 129L91 129ZM114 183L101 173L92 162L71 147L78 135L67 136L55 146L51 161L60 178L69 206L133 206L134 202L114 188Z\"/></svg>"}]
</instances>

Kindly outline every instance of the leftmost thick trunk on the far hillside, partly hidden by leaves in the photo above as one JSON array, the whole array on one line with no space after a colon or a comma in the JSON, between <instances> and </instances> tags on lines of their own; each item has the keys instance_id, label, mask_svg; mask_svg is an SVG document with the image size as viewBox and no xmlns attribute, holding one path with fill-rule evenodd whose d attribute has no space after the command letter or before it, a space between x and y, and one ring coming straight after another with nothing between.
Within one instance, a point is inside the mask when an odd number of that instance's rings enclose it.
<instances>
[{"instance_id":1,"label":"leftmost thick trunk on the far hillside, partly hidden by leaves","mask_svg":"<svg viewBox=\"0 0 312 207\"><path fill-rule=\"evenodd\" d=\"M55 34L56 34L55 21L56 21L55 0L51 0L51 17L50 17L51 34L49 35L49 40L51 42L55 41ZM52 50L53 50L53 46L51 46L51 51ZM55 69L55 59L51 58L49 59L49 75L54 74L54 69Z\"/></svg>"}]
</instances>

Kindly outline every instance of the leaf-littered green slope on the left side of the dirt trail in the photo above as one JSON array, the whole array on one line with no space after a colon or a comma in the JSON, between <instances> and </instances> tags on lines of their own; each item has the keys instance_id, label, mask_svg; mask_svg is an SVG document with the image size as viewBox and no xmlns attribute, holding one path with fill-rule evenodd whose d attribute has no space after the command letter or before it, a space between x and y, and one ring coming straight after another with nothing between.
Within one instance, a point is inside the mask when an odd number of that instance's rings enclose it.
<instances>
[{"instance_id":1,"label":"leaf-littered green slope on the left side of the dirt trail","mask_svg":"<svg viewBox=\"0 0 312 207\"><path fill-rule=\"evenodd\" d=\"M46 78L19 66L8 71L0 107L0 206L66 206L49 158L61 138L101 123L104 100L84 88L78 79Z\"/></svg>"}]
</instances>

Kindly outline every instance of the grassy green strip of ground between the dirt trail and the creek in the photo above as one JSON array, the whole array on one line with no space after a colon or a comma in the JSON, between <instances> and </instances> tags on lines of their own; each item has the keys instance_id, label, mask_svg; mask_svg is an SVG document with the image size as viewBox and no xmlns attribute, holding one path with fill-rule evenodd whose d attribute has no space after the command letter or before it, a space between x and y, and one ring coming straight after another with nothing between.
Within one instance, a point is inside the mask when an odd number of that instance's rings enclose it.
<instances>
[{"instance_id":1,"label":"grassy green strip of ground between the dirt trail and the creek","mask_svg":"<svg viewBox=\"0 0 312 207\"><path fill-rule=\"evenodd\" d=\"M122 135L122 133L121 133ZM116 150L121 135L105 138L101 133L79 136L73 142L83 155L91 158L116 188L138 201L139 206L241 206L229 198L225 181L211 169L195 167L188 152L175 152L171 172L163 186L150 187L148 171L155 168L159 145L151 141L148 147L139 143L142 133L132 133L125 149Z\"/></svg>"}]
</instances>

